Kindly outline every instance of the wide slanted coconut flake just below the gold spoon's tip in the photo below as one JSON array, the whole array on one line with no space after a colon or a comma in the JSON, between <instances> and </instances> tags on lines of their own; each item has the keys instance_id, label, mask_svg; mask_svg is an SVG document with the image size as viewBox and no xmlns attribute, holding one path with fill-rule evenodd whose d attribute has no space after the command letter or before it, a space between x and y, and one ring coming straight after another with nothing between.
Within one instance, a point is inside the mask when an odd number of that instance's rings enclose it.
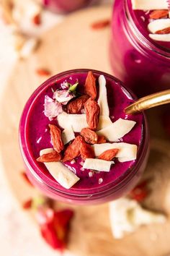
<instances>
[{"instance_id":1,"label":"wide slanted coconut flake just below the gold spoon's tip","mask_svg":"<svg viewBox=\"0 0 170 256\"><path fill-rule=\"evenodd\" d=\"M135 126L136 122L125 119L118 119L109 127L100 129L97 135L103 135L109 141L117 142L121 137L125 136Z\"/></svg>"}]
</instances>

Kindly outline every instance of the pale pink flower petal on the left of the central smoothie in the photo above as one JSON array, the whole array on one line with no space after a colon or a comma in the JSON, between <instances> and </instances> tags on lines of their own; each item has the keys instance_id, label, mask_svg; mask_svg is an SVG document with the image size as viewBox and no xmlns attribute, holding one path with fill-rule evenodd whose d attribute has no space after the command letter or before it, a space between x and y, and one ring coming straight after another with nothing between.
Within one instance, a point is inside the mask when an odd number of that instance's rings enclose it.
<instances>
[{"instance_id":1,"label":"pale pink flower petal on the left of the central smoothie","mask_svg":"<svg viewBox=\"0 0 170 256\"><path fill-rule=\"evenodd\" d=\"M50 98L48 95L45 95L45 103L44 103L44 114L51 121L53 118L58 116L63 112L63 108L61 103L58 103Z\"/></svg>"}]
</instances>

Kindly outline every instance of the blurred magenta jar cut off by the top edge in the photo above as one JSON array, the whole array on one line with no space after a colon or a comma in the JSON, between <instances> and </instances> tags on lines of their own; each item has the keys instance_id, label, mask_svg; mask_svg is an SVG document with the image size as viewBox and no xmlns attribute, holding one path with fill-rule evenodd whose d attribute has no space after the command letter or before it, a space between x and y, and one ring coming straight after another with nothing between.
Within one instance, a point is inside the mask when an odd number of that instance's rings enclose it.
<instances>
[{"instance_id":1,"label":"blurred magenta jar cut off by the top edge","mask_svg":"<svg viewBox=\"0 0 170 256\"><path fill-rule=\"evenodd\" d=\"M42 0L42 4L52 12L59 14L73 12L76 9L86 7L91 0Z\"/></svg>"}]
</instances>

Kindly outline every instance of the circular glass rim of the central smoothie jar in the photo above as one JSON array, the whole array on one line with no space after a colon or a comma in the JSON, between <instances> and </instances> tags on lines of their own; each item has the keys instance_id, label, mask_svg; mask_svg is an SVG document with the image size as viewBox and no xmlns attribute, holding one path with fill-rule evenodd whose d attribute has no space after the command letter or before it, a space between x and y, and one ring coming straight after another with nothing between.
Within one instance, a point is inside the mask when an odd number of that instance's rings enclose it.
<instances>
[{"instance_id":1,"label":"circular glass rim of the central smoothie jar","mask_svg":"<svg viewBox=\"0 0 170 256\"><path fill-rule=\"evenodd\" d=\"M27 127L27 116L29 114L29 109L32 107L32 103L34 103L35 99L38 97L38 95L42 92L42 90L45 90L45 88L49 87L53 84L53 82L56 81L56 79L60 79L64 77L66 74L75 74L75 73L84 73L92 71L94 74L103 74L105 77L115 80L115 82L119 82L120 87L125 92L126 95L128 95L131 99L136 100L136 96L130 91L129 88L126 88L120 80L118 80L116 77L112 76L111 74L107 74L105 72L100 72L94 69L71 69L66 72L61 72L59 74L55 74L53 77L50 77L48 80L42 83L35 91L32 93L30 98L28 99L26 105L24 106L24 110L22 111L22 117L20 119L19 124L19 145L20 150L22 152L22 157L24 158L24 162L26 163L26 166L29 168L32 175L37 179L40 184L43 184L43 186L48 187L48 189L53 190L53 192L61 193L62 195L66 195L68 197L88 197L89 195L100 195L102 192L109 193L110 189L115 187L115 191L120 189L125 182L128 182L130 179L135 176L136 172L138 171L138 165L140 165L140 162L143 161L143 158L145 156L147 147L145 148L145 145L147 144L146 141L148 140L147 135L147 121L146 116L143 114L143 124L142 124L142 138L141 142L138 148L138 155L140 157L138 158L138 161L136 160L133 166L131 167L130 171L128 169L125 171L124 174L122 174L118 179L116 179L114 182L110 182L109 184L105 184L104 186L97 187L97 188L91 188L91 189L73 189L72 191L68 191L68 189L64 189L63 187L59 186L55 181L52 181L50 178L45 176L45 174L40 171L40 168L38 168L37 165L35 165L34 161L32 161L32 156L29 153L29 150L27 150L27 139L26 139L26 132L25 129ZM36 97L35 97L36 95ZM34 99L34 101L32 101ZM24 127L23 125L24 124ZM22 136L24 133L24 136ZM24 145L24 147L22 147ZM141 153L142 152L142 153ZM36 171L35 171L36 168ZM84 192L79 195L79 192ZM96 191L96 192L95 192Z\"/></svg>"}]
</instances>

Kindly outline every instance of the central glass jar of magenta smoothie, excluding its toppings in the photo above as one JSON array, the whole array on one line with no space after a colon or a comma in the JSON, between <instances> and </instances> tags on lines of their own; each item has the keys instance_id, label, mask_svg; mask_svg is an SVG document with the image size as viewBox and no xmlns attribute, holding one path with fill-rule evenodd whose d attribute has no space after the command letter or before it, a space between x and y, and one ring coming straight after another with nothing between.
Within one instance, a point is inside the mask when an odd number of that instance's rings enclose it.
<instances>
[{"instance_id":1,"label":"central glass jar of magenta smoothie, excluding its toppings","mask_svg":"<svg viewBox=\"0 0 170 256\"><path fill-rule=\"evenodd\" d=\"M28 176L30 177L31 181L37 187L44 190L44 192L45 189L43 189L42 184L38 184L38 180L41 181L41 183L44 182L46 184L45 186L48 184L50 189L55 190L56 194L59 193L60 200L64 200L65 198L66 200L71 199L74 202L75 198L72 197L75 196L77 198L81 197L82 195L82 198L85 198L85 201L87 200L87 197L91 197L91 201L93 201L93 195L95 198L95 195L97 194L97 201L104 202L110 200L111 198L114 199L115 197L120 197L127 192L127 189L133 187L134 182L136 182L138 179L137 177L139 177L139 174L141 174L143 171L143 166L146 164L146 155L148 149L148 131L145 116L143 114L125 115L125 107L129 106L130 103L133 103L134 98L132 95L130 95L130 93L128 93L127 90L125 90L125 88L122 87L122 83L115 77L102 72L93 72L96 78L99 77L99 74L104 74L107 81L107 100L109 105L110 119L112 121L116 121L117 119L122 118L136 121L135 127L133 127L133 129L127 135L120 139L120 142L138 145L137 159L135 161L127 161L123 163L120 163L117 161L117 159L115 159L115 164L112 165L109 172L98 171L96 173L94 172L93 176L89 176L89 171L91 170L82 168L82 159L80 156L76 158L75 163L66 161L63 164L70 168L70 170L80 178L79 182L74 184L70 189L65 189L58 184L53 176L50 175L45 165L36 161L40 155L40 150L45 148L53 148L50 140L48 124L55 124L58 126L58 121L56 121L56 119L50 121L44 114L45 95L52 98L53 90L61 89L63 82L67 81L73 84L76 82L76 80L79 81L77 88L78 92L83 93L87 72L88 71L86 69L64 72L50 78L39 88L37 88L35 93L33 93L30 97L29 101L27 101L22 114L19 129L20 146L24 162L27 166ZM122 183L124 179L126 185ZM121 191L117 194L117 196L110 197L110 195L112 195L112 188L117 187L116 190L119 190L119 184L121 184L120 187L122 187L122 190L120 189ZM124 185L125 188L123 188ZM54 195L51 195L51 192L49 192L50 189L48 189L48 192L46 191L45 193L55 197ZM55 194L55 192L53 192L53 194ZM104 194L100 196L100 194L104 192L107 192L106 195ZM99 199L100 197L102 197L102 200ZM81 199L76 199L75 202L78 201L81 202Z\"/></svg>"}]
</instances>

